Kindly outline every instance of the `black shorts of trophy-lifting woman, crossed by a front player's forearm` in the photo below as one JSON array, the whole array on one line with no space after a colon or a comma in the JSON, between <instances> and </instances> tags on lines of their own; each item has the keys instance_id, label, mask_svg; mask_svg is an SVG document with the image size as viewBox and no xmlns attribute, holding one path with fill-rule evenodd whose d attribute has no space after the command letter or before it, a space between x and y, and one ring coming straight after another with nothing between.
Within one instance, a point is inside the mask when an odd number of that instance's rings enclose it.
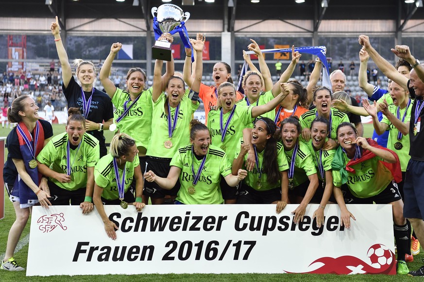
<instances>
[{"instance_id":1,"label":"black shorts of trophy-lifting woman, crossed by a front player's forearm","mask_svg":"<svg viewBox=\"0 0 424 282\"><path fill-rule=\"evenodd\" d=\"M168 173L170 173L170 162L171 158L165 157L147 157L147 171L152 171L159 177L166 178ZM146 166L145 166L146 170ZM176 196L180 190L180 181L177 180L174 188L167 190L161 188L156 182L144 182L143 195L149 196L154 199L165 198L166 195Z\"/></svg>"}]
</instances>

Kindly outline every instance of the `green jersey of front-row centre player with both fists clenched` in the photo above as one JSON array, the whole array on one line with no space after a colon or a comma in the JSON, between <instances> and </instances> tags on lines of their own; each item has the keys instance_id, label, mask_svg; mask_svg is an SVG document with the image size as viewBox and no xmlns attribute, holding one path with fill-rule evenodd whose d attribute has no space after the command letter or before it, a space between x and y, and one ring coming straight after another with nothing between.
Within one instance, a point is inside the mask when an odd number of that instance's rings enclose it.
<instances>
[{"instance_id":1,"label":"green jersey of front-row centre player with both fists clenched","mask_svg":"<svg viewBox=\"0 0 424 282\"><path fill-rule=\"evenodd\" d=\"M196 185L193 185L193 172L197 173L202 159L192 153L192 146L180 148L171 160L170 166L181 169L180 183L176 200L183 204L222 204L220 177L231 174L231 164L220 148L210 145L204 167ZM234 188L236 189L236 188Z\"/></svg>"}]
</instances>

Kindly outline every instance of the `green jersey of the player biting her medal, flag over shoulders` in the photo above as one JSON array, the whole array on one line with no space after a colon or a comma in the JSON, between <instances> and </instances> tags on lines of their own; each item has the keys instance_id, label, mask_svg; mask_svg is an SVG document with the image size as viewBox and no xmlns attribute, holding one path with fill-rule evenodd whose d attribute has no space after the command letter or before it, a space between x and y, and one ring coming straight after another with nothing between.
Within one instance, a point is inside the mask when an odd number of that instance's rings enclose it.
<instances>
[{"instance_id":1,"label":"green jersey of the player biting her medal, flag over shoulders","mask_svg":"<svg viewBox=\"0 0 424 282\"><path fill-rule=\"evenodd\" d=\"M349 162L343 154L345 165ZM383 191L393 179L390 170L381 162L382 158L373 157L351 166L355 173L347 172L347 186L357 198L370 198ZM340 172L333 171L333 184L341 186Z\"/></svg>"}]
</instances>

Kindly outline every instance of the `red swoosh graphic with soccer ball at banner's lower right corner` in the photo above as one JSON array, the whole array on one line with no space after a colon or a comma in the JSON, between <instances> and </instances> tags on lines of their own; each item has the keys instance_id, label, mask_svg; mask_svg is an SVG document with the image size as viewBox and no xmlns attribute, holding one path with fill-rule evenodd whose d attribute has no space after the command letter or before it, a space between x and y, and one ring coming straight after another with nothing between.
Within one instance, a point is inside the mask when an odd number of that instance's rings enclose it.
<instances>
[{"instance_id":1,"label":"red swoosh graphic with soccer ball at banner's lower right corner","mask_svg":"<svg viewBox=\"0 0 424 282\"><path fill-rule=\"evenodd\" d=\"M374 244L368 249L368 261L357 257L344 255L338 258L322 257L313 261L309 266L320 266L315 270L303 273L316 274L396 274L394 253L385 245ZM314 268L315 268L314 267ZM288 272L286 273L295 273Z\"/></svg>"}]
</instances>

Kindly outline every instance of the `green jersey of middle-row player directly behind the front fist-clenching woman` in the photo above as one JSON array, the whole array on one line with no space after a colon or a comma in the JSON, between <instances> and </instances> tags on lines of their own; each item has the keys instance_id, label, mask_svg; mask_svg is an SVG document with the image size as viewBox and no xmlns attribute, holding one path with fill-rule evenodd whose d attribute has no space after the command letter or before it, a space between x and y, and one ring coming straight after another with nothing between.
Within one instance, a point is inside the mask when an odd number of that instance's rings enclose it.
<instances>
[{"instance_id":1,"label":"green jersey of middle-row player directly behind the front fist-clenching woman","mask_svg":"<svg viewBox=\"0 0 424 282\"><path fill-rule=\"evenodd\" d=\"M227 153L228 160L230 163L233 162L234 152L236 152L237 146L240 144L240 138L243 136L243 129L249 124L252 124L254 119L252 118L252 108L254 106L243 106L244 100L238 102L234 107L234 116L231 119L225 134L224 141L221 141L222 133L220 129L220 109L211 110L207 117L207 128L209 128L211 135L211 144L219 146L222 150ZM231 111L222 115L222 127L225 128L225 124L230 116Z\"/></svg>"}]
</instances>

